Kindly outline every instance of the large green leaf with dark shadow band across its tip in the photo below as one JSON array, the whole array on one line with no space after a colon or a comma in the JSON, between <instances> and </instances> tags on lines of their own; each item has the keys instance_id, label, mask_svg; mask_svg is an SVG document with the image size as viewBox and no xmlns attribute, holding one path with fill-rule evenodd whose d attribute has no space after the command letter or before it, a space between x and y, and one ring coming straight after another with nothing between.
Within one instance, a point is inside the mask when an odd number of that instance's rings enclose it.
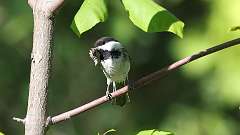
<instances>
[{"instance_id":1,"label":"large green leaf with dark shadow band across its tip","mask_svg":"<svg viewBox=\"0 0 240 135\"><path fill-rule=\"evenodd\" d=\"M183 37L184 23L152 0L122 0L134 25L145 32L169 31Z\"/></svg>"}]
</instances>

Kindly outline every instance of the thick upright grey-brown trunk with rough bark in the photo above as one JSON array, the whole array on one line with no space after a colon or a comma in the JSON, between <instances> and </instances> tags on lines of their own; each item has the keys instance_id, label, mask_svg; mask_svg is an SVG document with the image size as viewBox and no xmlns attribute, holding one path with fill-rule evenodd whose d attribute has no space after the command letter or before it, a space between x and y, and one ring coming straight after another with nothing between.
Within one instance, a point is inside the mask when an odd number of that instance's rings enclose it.
<instances>
[{"instance_id":1,"label":"thick upright grey-brown trunk with rough bark","mask_svg":"<svg viewBox=\"0 0 240 135\"><path fill-rule=\"evenodd\" d=\"M53 48L53 19L63 0L31 0L34 32L25 135L44 135L47 117L47 90Z\"/></svg>"}]
</instances>

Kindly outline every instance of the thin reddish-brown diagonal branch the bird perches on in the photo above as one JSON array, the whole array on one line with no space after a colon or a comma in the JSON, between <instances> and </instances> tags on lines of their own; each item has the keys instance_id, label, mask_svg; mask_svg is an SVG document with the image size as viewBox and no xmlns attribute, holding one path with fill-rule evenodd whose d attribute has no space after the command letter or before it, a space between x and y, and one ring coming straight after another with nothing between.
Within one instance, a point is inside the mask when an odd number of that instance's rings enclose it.
<instances>
[{"instance_id":1,"label":"thin reddish-brown diagonal branch the bird perches on","mask_svg":"<svg viewBox=\"0 0 240 135\"><path fill-rule=\"evenodd\" d=\"M112 94L112 97L115 98L117 96L120 96L126 92L128 92L129 90L128 89L136 89L136 88L140 88L142 86L145 86L147 84L149 84L150 82L154 81L154 80L157 80L157 79L161 79L163 78L165 75L169 74L170 72L180 68L181 66L187 64L187 63L190 63L194 60L197 60L199 58L202 58L206 55L209 55L209 54L212 54L212 53L215 53L217 51L220 51L220 50L223 50L225 48L228 48L228 47L231 47L231 46L235 46L235 45L238 45L240 44L240 38L237 38L237 39L234 39L234 40L231 40L231 41L228 41L228 42L225 42L225 43L222 43L222 44L219 44L217 46L214 46L214 47L211 47L211 48L208 48L206 50L203 50L203 51L200 51L198 53L195 53L191 56L188 56L188 57L185 57L169 66L166 66L165 68L162 68L156 72L153 72L147 76L144 76L140 79L138 79L137 81L133 82L133 84L131 86L130 85L126 85L125 87L121 88L121 89L118 89L117 91L111 93ZM77 107L73 110L70 110L70 111L67 111L65 113L62 113L62 114L59 114L57 116L54 116L54 117L49 117L48 118L48 123L47 125L53 125L53 124L56 124L56 123L59 123L59 122L62 122L62 121L65 121L67 119L70 119L71 117L73 116L76 116L82 112L85 112L85 111L88 111L90 109L93 109L103 103L106 103L108 101L108 98L106 96L103 96L103 97L100 97L98 99L95 99L85 105L82 105L80 107Z\"/></svg>"}]
</instances>

